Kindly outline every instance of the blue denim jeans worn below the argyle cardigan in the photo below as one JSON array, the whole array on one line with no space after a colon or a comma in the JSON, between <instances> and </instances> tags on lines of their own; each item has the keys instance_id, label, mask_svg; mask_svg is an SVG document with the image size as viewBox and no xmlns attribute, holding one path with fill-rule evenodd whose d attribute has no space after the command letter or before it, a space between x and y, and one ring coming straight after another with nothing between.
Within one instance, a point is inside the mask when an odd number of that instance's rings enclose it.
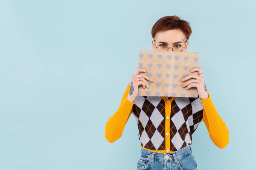
<instances>
[{"instance_id":1,"label":"blue denim jeans worn below the argyle cardigan","mask_svg":"<svg viewBox=\"0 0 256 170\"><path fill-rule=\"evenodd\" d=\"M171 153L153 152L141 148L137 170L197 170L190 145Z\"/></svg>"}]
</instances>

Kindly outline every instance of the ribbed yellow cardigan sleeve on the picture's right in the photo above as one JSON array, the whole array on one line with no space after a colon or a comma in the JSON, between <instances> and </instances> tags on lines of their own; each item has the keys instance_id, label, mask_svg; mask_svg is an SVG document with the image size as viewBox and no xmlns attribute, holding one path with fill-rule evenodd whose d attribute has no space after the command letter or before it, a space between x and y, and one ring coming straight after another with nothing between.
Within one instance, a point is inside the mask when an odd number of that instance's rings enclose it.
<instances>
[{"instance_id":1,"label":"ribbed yellow cardigan sleeve on the picture's right","mask_svg":"<svg viewBox=\"0 0 256 170\"><path fill-rule=\"evenodd\" d=\"M216 146L223 149L229 143L229 131L227 126L216 111L210 94L207 99L200 98L200 100L204 106L203 121L209 132L209 136Z\"/></svg>"}]
</instances>

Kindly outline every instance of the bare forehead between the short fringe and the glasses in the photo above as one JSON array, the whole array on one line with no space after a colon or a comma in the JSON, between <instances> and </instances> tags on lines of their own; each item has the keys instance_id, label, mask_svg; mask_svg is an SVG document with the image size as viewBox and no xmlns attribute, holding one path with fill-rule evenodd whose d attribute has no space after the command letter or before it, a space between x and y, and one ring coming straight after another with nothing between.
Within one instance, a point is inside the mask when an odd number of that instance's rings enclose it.
<instances>
[{"instance_id":1,"label":"bare forehead between the short fringe and the glasses","mask_svg":"<svg viewBox=\"0 0 256 170\"><path fill-rule=\"evenodd\" d=\"M156 41L163 41L167 43L181 41L182 39L185 40L185 34L179 29L170 29L162 32L158 32L156 34Z\"/></svg>"}]
</instances>

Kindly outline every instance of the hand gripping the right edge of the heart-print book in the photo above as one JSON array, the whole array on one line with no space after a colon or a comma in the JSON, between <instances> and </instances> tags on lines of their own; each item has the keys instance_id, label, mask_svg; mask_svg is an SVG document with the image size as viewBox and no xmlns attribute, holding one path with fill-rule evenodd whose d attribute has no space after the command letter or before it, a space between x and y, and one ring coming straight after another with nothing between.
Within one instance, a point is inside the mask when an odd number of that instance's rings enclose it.
<instances>
[{"instance_id":1,"label":"hand gripping the right edge of the heart-print book","mask_svg":"<svg viewBox=\"0 0 256 170\"><path fill-rule=\"evenodd\" d=\"M193 72L198 71L198 75L192 74ZM207 88L204 82L204 75L201 67L195 67L191 71L191 74L187 75L183 79L181 79L182 82L187 81L185 84L182 85L182 87L186 87L186 90L188 90L191 87L196 87L198 90L198 96L203 100L207 99L209 97L209 94L207 93Z\"/></svg>"}]
</instances>

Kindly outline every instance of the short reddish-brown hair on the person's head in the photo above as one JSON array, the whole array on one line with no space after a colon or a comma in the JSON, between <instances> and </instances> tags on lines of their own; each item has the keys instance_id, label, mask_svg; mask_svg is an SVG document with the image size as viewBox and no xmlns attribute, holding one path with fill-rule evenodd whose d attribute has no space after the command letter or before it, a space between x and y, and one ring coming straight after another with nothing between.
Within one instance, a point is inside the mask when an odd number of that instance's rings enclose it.
<instances>
[{"instance_id":1,"label":"short reddish-brown hair on the person's head","mask_svg":"<svg viewBox=\"0 0 256 170\"><path fill-rule=\"evenodd\" d=\"M189 40L190 34L192 34L189 22L180 20L180 17L174 15L160 18L152 27L151 35L154 38L158 32L169 29L180 29L185 34L187 40Z\"/></svg>"}]
</instances>

